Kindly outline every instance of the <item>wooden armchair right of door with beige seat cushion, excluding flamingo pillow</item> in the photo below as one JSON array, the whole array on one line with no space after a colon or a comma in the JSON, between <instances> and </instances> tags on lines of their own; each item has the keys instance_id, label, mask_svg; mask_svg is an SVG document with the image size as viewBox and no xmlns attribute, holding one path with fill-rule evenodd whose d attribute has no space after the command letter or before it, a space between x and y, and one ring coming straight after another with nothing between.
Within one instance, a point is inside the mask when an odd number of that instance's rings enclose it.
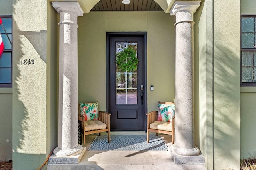
<instances>
[{"instance_id":1,"label":"wooden armchair right of door with beige seat cushion, excluding flamingo pillow","mask_svg":"<svg viewBox=\"0 0 256 170\"><path fill-rule=\"evenodd\" d=\"M174 104L172 102L158 102L159 104ZM147 142L149 143L149 132L163 133L167 135L172 135L172 144L174 143L174 121L175 118L172 117L172 122L157 121L158 111L151 111L146 114L148 118L147 122Z\"/></svg>"}]
</instances>

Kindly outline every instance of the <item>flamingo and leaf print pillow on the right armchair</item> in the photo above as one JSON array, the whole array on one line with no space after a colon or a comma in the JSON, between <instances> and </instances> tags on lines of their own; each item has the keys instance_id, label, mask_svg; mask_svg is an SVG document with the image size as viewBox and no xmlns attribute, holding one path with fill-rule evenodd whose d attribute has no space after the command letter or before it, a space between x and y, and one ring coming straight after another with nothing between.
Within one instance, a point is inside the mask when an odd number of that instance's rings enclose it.
<instances>
[{"instance_id":1,"label":"flamingo and leaf print pillow on the right armchair","mask_svg":"<svg viewBox=\"0 0 256 170\"><path fill-rule=\"evenodd\" d=\"M175 115L175 104L159 104L157 121L172 122L172 117Z\"/></svg>"}]
</instances>

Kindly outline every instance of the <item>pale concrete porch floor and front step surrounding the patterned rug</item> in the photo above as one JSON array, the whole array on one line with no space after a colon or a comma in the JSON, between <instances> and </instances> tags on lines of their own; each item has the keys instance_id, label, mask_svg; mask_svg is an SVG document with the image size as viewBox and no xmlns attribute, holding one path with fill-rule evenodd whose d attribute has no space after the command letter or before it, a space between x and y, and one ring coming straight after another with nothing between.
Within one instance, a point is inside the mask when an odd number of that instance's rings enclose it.
<instances>
[{"instance_id":1,"label":"pale concrete porch floor and front step surrounding the patterned rug","mask_svg":"<svg viewBox=\"0 0 256 170\"><path fill-rule=\"evenodd\" d=\"M103 135L104 133L102 133ZM145 132L110 132L145 134ZM150 133L154 134L154 133ZM88 151L97 134L86 135L86 152L78 164L48 164L48 170L205 170L205 164L174 164L169 151ZM161 135L169 147L170 135ZM111 137L111 136L110 136Z\"/></svg>"}]
</instances>

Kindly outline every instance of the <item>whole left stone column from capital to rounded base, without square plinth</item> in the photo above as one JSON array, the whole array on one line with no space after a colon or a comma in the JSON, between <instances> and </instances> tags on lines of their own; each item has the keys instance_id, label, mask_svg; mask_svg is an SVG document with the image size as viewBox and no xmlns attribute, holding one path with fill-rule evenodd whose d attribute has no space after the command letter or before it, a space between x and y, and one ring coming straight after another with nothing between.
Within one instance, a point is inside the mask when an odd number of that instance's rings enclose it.
<instances>
[{"instance_id":1,"label":"whole left stone column from capital to rounded base, without square plinth","mask_svg":"<svg viewBox=\"0 0 256 170\"><path fill-rule=\"evenodd\" d=\"M77 17L83 15L78 2L52 2L60 14L59 117L57 156L82 152L78 144L78 56Z\"/></svg>"}]
</instances>

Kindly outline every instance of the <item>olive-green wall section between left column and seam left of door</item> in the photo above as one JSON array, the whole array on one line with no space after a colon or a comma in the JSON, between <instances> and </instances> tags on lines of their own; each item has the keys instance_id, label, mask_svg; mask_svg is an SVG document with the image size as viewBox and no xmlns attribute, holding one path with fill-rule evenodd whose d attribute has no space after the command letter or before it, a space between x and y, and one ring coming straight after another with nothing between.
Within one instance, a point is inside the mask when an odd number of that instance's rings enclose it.
<instances>
[{"instance_id":1,"label":"olive-green wall section between left column and seam left of door","mask_svg":"<svg viewBox=\"0 0 256 170\"><path fill-rule=\"evenodd\" d=\"M78 17L78 102L106 111L106 12Z\"/></svg>"}]
</instances>

